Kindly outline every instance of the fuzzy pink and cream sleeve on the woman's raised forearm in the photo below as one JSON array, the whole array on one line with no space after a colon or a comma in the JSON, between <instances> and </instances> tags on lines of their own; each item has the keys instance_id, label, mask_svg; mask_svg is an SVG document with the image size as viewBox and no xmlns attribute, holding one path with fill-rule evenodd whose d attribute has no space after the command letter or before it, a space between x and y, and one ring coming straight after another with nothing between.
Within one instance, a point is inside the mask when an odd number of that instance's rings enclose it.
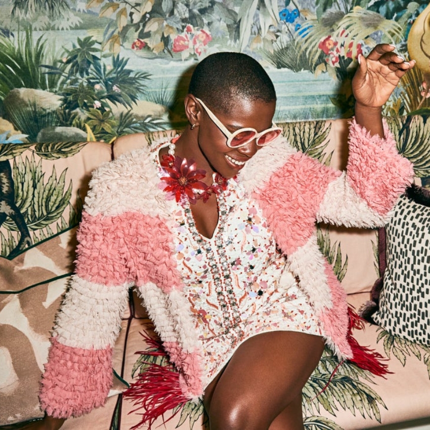
<instances>
[{"instance_id":1,"label":"fuzzy pink and cream sleeve on the woman's raised forearm","mask_svg":"<svg viewBox=\"0 0 430 430\"><path fill-rule=\"evenodd\" d=\"M385 225L396 200L413 181L413 166L402 157L386 124L385 136L370 136L350 124L347 170L329 184L317 221L355 227Z\"/></svg>"}]
</instances>

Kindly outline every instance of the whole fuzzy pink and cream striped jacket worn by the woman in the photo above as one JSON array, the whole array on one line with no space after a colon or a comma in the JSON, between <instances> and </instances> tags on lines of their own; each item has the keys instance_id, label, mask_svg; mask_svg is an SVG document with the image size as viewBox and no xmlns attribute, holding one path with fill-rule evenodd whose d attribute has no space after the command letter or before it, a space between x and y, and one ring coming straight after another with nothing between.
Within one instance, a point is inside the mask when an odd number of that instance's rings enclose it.
<instances>
[{"instance_id":1,"label":"whole fuzzy pink and cream striped jacket worn by the woman","mask_svg":"<svg viewBox=\"0 0 430 430\"><path fill-rule=\"evenodd\" d=\"M321 254L315 224L383 226L412 182L411 163L385 139L355 121L346 171L337 171L277 139L239 174L263 209L289 270L310 298L324 336L340 359L354 359L346 293ZM183 399L203 395L201 351L174 259L177 204L166 199L149 148L99 167L78 231L76 271L56 319L40 391L48 415L68 418L105 403L112 383L112 348L136 286L163 348L178 370Z\"/></svg>"}]
</instances>

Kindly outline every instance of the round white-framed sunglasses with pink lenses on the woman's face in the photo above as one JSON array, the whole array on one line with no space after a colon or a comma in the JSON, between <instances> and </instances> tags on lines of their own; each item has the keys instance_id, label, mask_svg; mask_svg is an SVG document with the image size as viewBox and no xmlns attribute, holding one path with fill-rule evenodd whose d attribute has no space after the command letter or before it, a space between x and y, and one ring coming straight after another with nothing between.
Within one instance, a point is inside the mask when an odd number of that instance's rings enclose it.
<instances>
[{"instance_id":1,"label":"round white-framed sunglasses with pink lenses on the woman's face","mask_svg":"<svg viewBox=\"0 0 430 430\"><path fill-rule=\"evenodd\" d=\"M257 132L255 128L250 127L239 128L239 130L236 130L234 133L230 133L227 130L227 127L199 98L196 97L196 100L202 105L203 109L209 115L209 118L227 136L227 146L229 148L240 148L241 146L247 145L254 139L258 146L265 146L274 141L282 133L282 128L277 127L276 124L273 124L271 128L268 128L261 133Z\"/></svg>"}]
</instances>

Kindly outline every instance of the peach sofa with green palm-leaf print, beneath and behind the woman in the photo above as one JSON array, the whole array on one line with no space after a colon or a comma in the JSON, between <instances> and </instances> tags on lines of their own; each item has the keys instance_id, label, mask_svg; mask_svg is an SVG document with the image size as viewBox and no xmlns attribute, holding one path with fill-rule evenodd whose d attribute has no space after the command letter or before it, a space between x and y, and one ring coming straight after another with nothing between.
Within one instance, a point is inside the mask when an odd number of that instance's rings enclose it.
<instances>
[{"instance_id":1,"label":"peach sofa with green palm-leaf print, beneath and behind the woman","mask_svg":"<svg viewBox=\"0 0 430 430\"><path fill-rule=\"evenodd\" d=\"M416 183L424 184L430 158L417 148L425 139L425 118L417 115L389 122L405 156L414 162L427 157L427 167L417 162L416 169ZM336 168L345 167L348 120L282 125L298 149ZM19 428L23 421L42 416L38 384L54 316L73 271L75 232L92 170L175 133L137 134L113 144L0 146L0 428ZM318 228L320 247L356 310L369 300L380 276L378 236L376 229ZM151 333L150 327L144 307L131 290L114 349L114 382L106 405L67 420L64 430L128 430L139 422L139 411L134 411L135 406L121 392L145 366L148 356L142 333ZM396 429L406 429L410 420L430 425L430 347L367 322L355 336L380 353L392 373L373 376L351 364L338 363L326 350L303 392L305 428L355 430L397 423ZM190 403L172 413L160 428L204 428L199 404Z\"/></svg>"}]
</instances>

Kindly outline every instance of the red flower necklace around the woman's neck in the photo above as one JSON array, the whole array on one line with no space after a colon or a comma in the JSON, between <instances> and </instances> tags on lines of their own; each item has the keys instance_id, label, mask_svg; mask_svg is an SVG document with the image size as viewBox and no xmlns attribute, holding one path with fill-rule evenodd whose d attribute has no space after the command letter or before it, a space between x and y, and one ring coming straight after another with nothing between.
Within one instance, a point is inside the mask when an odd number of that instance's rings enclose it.
<instances>
[{"instance_id":1,"label":"red flower necklace around the woman's neck","mask_svg":"<svg viewBox=\"0 0 430 430\"><path fill-rule=\"evenodd\" d=\"M169 175L161 178L161 181L166 183L163 191L174 194L177 202L187 198L190 203L195 204L199 199L206 203L212 194L219 195L221 191L226 190L227 179L220 174L217 173L215 182L207 186L201 181L206 176L206 170L198 169L193 159L188 161L175 155L177 140L178 138L171 141L168 155L163 155L161 159L161 167Z\"/></svg>"}]
</instances>

